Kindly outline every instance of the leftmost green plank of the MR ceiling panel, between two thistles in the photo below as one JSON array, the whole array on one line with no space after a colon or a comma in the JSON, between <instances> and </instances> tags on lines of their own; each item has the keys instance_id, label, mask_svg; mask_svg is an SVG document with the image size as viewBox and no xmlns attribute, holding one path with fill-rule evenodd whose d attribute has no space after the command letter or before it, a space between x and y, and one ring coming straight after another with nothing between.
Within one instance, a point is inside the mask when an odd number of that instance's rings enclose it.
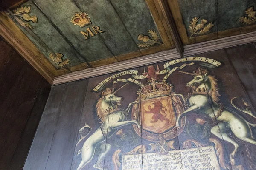
<instances>
[{"instance_id":1,"label":"leftmost green plank of the MR ceiling panel, between two thistles","mask_svg":"<svg viewBox=\"0 0 256 170\"><path fill-rule=\"evenodd\" d=\"M31 1L24 3L24 6L29 6L31 8L30 15L36 16L40 20L38 22L26 23L21 17L15 16L15 22L23 32L32 40L36 46L41 50L41 52L49 58L49 61L55 66L55 68L61 68L56 65L56 63L50 59L50 54L61 53L63 55L63 60L69 59L69 65L78 65L85 62L84 57L82 57L72 45L65 41L64 37L55 29L55 27L50 23L47 17L33 4ZM24 24L29 24L32 29L23 26Z\"/></svg>"}]
</instances>

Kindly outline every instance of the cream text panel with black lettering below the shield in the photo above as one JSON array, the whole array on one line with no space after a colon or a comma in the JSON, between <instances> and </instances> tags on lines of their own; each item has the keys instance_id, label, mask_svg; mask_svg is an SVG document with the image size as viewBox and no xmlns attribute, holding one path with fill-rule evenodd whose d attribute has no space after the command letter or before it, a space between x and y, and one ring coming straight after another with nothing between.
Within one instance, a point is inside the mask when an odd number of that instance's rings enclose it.
<instances>
[{"instance_id":1,"label":"cream text panel with black lettering below the shield","mask_svg":"<svg viewBox=\"0 0 256 170\"><path fill-rule=\"evenodd\" d=\"M220 170L213 146L122 156L122 170Z\"/></svg>"}]
</instances>

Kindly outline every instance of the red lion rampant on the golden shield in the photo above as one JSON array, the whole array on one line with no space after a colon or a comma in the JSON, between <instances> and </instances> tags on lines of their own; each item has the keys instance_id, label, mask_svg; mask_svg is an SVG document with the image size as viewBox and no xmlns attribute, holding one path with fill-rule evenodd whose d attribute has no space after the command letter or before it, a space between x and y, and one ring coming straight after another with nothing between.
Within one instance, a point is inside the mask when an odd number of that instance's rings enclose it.
<instances>
[{"instance_id":1,"label":"red lion rampant on the golden shield","mask_svg":"<svg viewBox=\"0 0 256 170\"><path fill-rule=\"evenodd\" d=\"M149 111L145 111L145 113L153 113L154 115L152 116L152 120L150 121L151 123L155 123L158 120L160 120L161 122L163 122L164 120L166 121L165 125L169 124L169 119L166 118L166 112L167 109L166 107L163 107L163 104L160 101L154 102L153 103L154 108L151 108L151 106L148 106L148 110ZM160 111L163 114L160 113Z\"/></svg>"}]
</instances>

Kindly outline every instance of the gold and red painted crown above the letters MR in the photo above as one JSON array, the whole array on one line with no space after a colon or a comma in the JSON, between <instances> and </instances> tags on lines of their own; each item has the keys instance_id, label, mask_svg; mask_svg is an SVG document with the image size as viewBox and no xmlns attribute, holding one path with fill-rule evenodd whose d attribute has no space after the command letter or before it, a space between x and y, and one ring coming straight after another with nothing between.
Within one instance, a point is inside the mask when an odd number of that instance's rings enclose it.
<instances>
[{"instance_id":1,"label":"gold and red painted crown above the letters MR","mask_svg":"<svg viewBox=\"0 0 256 170\"><path fill-rule=\"evenodd\" d=\"M80 28L91 24L90 17L85 12L76 12L75 16L71 18L70 22L73 23L75 26L80 26Z\"/></svg>"}]
</instances>

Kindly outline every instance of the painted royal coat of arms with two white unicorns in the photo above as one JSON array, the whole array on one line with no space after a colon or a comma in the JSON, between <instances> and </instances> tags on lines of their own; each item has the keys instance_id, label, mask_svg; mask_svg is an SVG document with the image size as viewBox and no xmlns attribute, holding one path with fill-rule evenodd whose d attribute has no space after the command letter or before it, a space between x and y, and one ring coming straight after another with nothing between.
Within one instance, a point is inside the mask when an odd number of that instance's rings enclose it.
<instances>
[{"instance_id":1,"label":"painted royal coat of arms with two white unicorns","mask_svg":"<svg viewBox=\"0 0 256 170\"><path fill-rule=\"evenodd\" d=\"M89 79L71 169L253 170L255 111L227 71L186 57Z\"/></svg>"}]
</instances>

